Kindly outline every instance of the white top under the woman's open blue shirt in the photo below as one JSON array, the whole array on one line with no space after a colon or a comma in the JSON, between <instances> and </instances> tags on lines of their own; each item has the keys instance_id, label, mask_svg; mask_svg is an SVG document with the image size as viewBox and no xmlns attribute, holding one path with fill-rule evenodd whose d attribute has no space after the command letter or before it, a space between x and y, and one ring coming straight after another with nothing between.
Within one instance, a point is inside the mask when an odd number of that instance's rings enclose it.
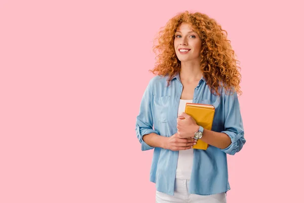
<instances>
[{"instance_id":1,"label":"white top under the woman's open blue shirt","mask_svg":"<svg viewBox=\"0 0 304 203\"><path fill-rule=\"evenodd\" d=\"M186 103L192 103L193 100L179 100L178 114L185 111ZM190 179L194 157L193 148L187 150L180 150L178 152L176 178Z\"/></svg>"}]
</instances>

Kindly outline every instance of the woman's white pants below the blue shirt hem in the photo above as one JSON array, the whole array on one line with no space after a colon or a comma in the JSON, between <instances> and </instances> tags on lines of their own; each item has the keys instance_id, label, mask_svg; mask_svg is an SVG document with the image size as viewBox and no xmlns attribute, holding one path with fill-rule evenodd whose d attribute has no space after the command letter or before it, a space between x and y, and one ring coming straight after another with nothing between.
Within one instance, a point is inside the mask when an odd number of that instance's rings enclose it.
<instances>
[{"instance_id":1,"label":"woman's white pants below the blue shirt hem","mask_svg":"<svg viewBox=\"0 0 304 203\"><path fill-rule=\"evenodd\" d=\"M188 192L190 180L175 179L174 195L156 191L156 203L169 202L206 202L206 203L226 203L226 193L212 195L190 194Z\"/></svg>"}]
</instances>

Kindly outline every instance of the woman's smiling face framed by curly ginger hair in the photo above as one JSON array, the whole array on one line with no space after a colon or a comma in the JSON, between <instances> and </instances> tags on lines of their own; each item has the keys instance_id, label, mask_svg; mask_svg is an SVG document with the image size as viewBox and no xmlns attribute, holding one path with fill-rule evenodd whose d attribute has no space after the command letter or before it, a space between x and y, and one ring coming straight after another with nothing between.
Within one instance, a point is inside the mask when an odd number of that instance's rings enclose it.
<instances>
[{"instance_id":1,"label":"woman's smiling face framed by curly ginger hair","mask_svg":"<svg viewBox=\"0 0 304 203\"><path fill-rule=\"evenodd\" d=\"M191 24L182 22L175 32L174 49L180 61L201 60L201 39Z\"/></svg>"}]
</instances>

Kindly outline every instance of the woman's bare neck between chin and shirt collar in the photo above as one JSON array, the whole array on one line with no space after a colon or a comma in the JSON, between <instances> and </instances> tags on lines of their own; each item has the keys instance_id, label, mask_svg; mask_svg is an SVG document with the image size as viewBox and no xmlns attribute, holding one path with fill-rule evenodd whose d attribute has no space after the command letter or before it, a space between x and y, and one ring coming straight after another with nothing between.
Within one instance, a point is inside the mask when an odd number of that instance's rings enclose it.
<instances>
[{"instance_id":1,"label":"woman's bare neck between chin and shirt collar","mask_svg":"<svg viewBox=\"0 0 304 203\"><path fill-rule=\"evenodd\" d=\"M201 80L203 73L201 71L200 61L182 61L179 72L180 80L187 83Z\"/></svg>"}]
</instances>

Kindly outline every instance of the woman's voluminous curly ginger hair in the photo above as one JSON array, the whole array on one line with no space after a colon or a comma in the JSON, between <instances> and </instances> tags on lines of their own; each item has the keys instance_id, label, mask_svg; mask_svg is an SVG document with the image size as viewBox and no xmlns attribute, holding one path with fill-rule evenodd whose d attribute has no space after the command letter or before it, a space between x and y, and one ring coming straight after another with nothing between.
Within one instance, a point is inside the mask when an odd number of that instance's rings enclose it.
<instances>
[{"instance_id":1,"label":"woman's voluminous curly ginger hair","mask_svg":"<svg viewBox=\"0 0 304 203\"><path fill-rule=\"evenodd\" d=\"M158 32L158 44L153 46L156 56L156 63L153 74L159 76L168 75L168 86L173 77L180 71L181 64L178 60L174 39L178 26L186 22L192 25L195 32L202 40L201 50L201 71L206 79L210 91L219 95L220 88L225 92L237 92L242 94L240 88L241 74L238 60L235 59L235 52L227 40L227 32L221 28L214 19L202 13L182 12L171 18L163 29ZM224 35L224 33L226 35Z\"/></svg>"}]
</instances>

